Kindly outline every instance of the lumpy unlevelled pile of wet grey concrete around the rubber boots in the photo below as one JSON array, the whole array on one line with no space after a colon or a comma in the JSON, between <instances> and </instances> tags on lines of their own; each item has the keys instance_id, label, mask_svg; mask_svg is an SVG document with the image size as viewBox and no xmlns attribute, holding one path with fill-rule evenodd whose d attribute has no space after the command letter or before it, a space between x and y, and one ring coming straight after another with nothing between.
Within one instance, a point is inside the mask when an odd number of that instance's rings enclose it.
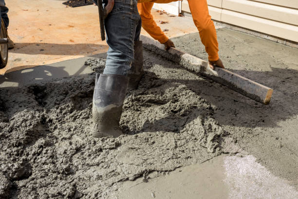
<instances>
[{"instance_id":1,"label":"lumpy unlevelled pile of wet grey concrete around the rubber boots","mask_svg":"<svg viewBox=\"0 0 298 199\"><path fill-rule=\"evenodd\" d=\"M146 74L128 91L116 139L91 135L94 73L1 89L0 198L108 198L122 181L228 152L218 107L192 90L210 83L144 54ZM104 62L87 64L100 72Z\"/></svg>"}]
</instances>

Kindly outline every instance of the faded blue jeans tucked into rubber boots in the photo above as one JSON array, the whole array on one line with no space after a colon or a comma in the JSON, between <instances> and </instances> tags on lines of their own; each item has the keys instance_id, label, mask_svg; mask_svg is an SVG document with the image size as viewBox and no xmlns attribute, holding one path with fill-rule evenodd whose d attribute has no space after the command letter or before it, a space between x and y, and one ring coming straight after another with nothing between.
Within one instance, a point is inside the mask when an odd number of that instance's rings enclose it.
<instances>
[{"instance_id":1,"label":"faded blue jeans tucked into rubber boots","mask_svg":"<svg viewBox=\"0 0 298 199\"><path fill-rule=\"evenodd\" d=\"M134 57L134 41L140 39L141 27L137 0L115 0L112 12L105 19L109 50L103 74L128 74Z\"/></svg>"}]
</instances>

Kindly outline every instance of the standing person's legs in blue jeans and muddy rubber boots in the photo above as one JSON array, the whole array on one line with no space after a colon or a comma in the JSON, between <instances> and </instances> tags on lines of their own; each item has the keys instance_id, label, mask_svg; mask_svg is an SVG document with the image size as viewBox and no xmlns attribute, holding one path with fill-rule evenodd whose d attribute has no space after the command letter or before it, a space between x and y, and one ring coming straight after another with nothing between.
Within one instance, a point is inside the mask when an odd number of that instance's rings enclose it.
<instances>
[{"instance_id":1,"label":"standing person's legs in blue jeans and muddy rubber boots","mask_svg":"<svg viewBox=\"0 0 298 199\"><path fill-rule=\"evenodd\" d=\"M142 22L137 0L103 0L103 4L109 13L105 19L109 50L103 74L95 78L93 136L118 137L127 88L136 89L144 73Z\"/></svg>"}]
</instances>

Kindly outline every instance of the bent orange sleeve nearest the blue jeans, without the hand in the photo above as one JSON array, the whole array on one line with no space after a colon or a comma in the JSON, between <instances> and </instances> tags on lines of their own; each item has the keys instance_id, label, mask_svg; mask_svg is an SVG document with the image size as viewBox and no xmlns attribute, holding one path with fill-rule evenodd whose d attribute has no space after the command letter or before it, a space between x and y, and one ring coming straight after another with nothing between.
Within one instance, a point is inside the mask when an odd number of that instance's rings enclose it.
<instances>
[{"instance_id":1,"label":"bent orange sleeve nearest the blue jeans, without the hand","mask_svg":"<svg viewBox=\"0 0 298 199\"><path fill-rule=\"evenodd\" d=\"M152 7L153 2L138 3L138 10L142 18L142 27L152 38L158 40L160 43L165 43L168 37L153 20L153 16L151 15Z\"/></svg>"}]
</instances>

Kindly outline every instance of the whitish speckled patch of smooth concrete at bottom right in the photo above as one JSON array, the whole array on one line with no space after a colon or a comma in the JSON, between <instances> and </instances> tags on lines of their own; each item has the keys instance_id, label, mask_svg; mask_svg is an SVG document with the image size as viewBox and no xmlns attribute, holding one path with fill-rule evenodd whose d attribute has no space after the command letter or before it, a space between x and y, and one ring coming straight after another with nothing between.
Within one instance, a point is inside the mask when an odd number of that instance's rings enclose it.
<instances>
[{"instance_id":1,"label":"whitish speckled patch of smooth concrete at bottom right","mask_svg":"<svg viewBox=\"0 0 298 199\"><path fill-rule=\"evenodd\" d=\"M273 176L253 156L228 156L224 160L225 183L230 199L297 199L296 189Z\"/></svg>"}]
</instances>

